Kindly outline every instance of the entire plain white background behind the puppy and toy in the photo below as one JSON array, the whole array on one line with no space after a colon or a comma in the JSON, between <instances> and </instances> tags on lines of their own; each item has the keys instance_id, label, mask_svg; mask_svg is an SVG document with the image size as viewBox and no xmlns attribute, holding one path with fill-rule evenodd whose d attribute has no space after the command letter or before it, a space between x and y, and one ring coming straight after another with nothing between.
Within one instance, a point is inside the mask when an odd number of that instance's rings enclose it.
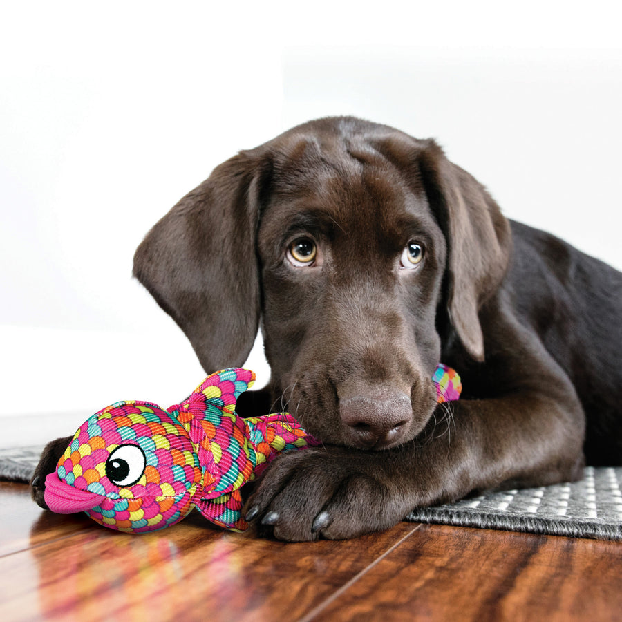
<instances>
[{"instance_id":1,"label":"entire plain white background behind the puppy and toy","mask_svg":"<svg viewBox=\"0 0 622 622\"><path fill-rule=\"evenodd\" d=\"M84 411L79 424L118 399L185 397L202 369L131 279L134 249L216 164L312 117L437 138L507 216L622 268L613 2L13 5L0 415ZM250 365L265 382L261 347Z\"/></svg>"}]
</instances>

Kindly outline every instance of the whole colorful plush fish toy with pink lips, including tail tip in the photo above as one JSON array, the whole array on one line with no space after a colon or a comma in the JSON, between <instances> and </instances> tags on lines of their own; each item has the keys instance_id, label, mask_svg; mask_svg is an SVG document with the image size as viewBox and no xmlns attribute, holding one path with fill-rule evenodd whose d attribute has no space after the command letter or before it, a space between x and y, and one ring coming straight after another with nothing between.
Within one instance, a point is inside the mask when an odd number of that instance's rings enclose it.
<instances>
[{"instance_id":1,"label":"whole colorful plush fish toy with pink lips, including tail tip","mask_svg":"<svg viewBox=\"0 0 622 622\"><path fill-rule=\"evenodd\" d=\"M281 451L319 444L288 413L236 415L238 396L254 380L249 370L225 369L166 411L117 402L95 413L47 476L46 504L133 534L174 525L194 507L220 527L243 531L243 484ZM458 399L453 369L440 364L433 382L439 403Z\"/></svg>"}]
</instances>

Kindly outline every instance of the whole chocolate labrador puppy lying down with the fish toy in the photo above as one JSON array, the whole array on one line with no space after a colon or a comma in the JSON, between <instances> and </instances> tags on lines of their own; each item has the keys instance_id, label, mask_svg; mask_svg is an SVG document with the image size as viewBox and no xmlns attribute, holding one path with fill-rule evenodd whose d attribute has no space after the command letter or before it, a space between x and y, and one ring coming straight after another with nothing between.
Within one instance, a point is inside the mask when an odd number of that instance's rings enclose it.
<instances>
[{"instance_id":1,"label":"whole chocolate labrador puppy lying down with the fish toy","mask_svg":"<svg viewBox=\"0 0 622 622\"><path fill-rule=\"evenodd\" d=\"M509 222L433 140L338 117L242 151L151 229L134 274L206 372L242 365L261 326L272 378L241 414L288 410L323 443L247 501L276 538L621 464L622 275ZM462 376L449 407L439 361Z\"/></svg>"}]
</instances>

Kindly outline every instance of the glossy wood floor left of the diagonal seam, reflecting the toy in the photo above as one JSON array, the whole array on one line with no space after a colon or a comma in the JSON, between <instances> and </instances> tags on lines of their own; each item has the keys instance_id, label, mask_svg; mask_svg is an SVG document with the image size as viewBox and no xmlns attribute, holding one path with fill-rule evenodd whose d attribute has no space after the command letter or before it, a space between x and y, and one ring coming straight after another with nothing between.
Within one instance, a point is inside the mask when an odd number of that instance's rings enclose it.
<instances>
[{"instance_id":1,"label":"glossy wood floor left of the diagonal seam, reflecting the toy","mask_svg":"<svg viewBox=\"0 0 622 622\"><path fill-rule=\"evenodd\" d=\"M26 500L15 503L24 522ZM52 518L39 516L27 546L0 558L0 619L294 620L415 529L287 545L216 531L198 514L142 536Z\"/></svg>"}]
</instances>

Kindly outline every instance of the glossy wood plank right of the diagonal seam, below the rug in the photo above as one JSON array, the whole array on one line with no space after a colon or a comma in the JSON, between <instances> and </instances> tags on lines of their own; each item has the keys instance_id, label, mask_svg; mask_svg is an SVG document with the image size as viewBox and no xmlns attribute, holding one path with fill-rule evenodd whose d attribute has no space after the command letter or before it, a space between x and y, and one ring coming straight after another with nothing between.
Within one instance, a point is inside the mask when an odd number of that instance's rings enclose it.
<instances>
[{"instance_id":1,"label":"glossy wood plank right of the diagonal seam, below the rug","mask_svg":"<svg viewBox=\"0 0 622 622\"><path fill-rule=\"evenodd\" d=\"M308 619L619 621L622 543L422 526Z\"/></svg>"}]
</instances>

